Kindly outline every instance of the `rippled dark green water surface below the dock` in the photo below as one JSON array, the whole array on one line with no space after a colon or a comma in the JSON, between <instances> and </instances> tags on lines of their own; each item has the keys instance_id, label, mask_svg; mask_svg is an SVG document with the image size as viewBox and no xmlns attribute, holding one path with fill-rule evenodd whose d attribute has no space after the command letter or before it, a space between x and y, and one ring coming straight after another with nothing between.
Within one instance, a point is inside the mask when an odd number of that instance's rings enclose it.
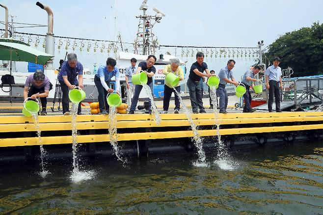
<instances>
[{"instance_id":1,"label":"rippled dark green water surface below the dock","mask_svg":"<svg viewBox=\"0 0 323 215\"><path fill-rule=\"evenodd\" d=\"M90 180L72 183L72 159L0 166L0 214L323 214L323 141L239 146L235 169L208 167L194 155L86 161ZM52 164L51 164L52 163Z\"/></svg>"}]
</instances>

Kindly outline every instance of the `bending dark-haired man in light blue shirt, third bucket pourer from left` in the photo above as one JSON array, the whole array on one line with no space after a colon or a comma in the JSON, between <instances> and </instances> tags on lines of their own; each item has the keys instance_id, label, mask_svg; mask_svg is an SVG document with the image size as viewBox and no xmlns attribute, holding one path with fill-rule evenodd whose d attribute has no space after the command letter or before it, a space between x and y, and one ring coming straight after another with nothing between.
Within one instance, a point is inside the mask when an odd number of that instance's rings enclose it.
<instances>
[{"instance_id":1,"label":"bending dark-haired man in light blue shirt, third bucket pourer from left","mask_svg":"<svg viewBox=\"0 0 323 215\"><path fill-rule=\"evenodd\" d=\"M108 93L113 93L113 89L109 88L111 78L115 77L115 89L117 94L120 95L120 80L119 80L119 69L115 65L117 61L111 57L107 59L107 65L100 65L98 70L95 72L94 83L98 89L98 101L99 109L101 114L109 113L109 105L107 101Z\"/></svg>"}]
</instances>

